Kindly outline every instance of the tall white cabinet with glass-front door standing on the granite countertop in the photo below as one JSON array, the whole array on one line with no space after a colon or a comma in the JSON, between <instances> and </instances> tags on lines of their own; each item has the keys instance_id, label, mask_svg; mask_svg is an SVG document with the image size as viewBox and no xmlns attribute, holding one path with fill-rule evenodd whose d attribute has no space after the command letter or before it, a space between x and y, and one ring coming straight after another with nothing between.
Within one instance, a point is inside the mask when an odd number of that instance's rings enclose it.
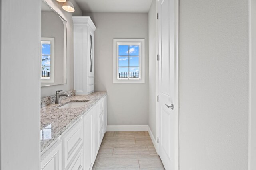
<instances>
[{"instance_id":1,"label":"tall white cabinet with glass-front door standing on the granite countertop","mask_svg":"<svg viewBox=\"0 0 256 170\"><path fill-rule=\"evenodd\" d=\"M88 16L73 16L74 89L77 95L94 92L94 31Z\"/></svg>"}]
</instances>

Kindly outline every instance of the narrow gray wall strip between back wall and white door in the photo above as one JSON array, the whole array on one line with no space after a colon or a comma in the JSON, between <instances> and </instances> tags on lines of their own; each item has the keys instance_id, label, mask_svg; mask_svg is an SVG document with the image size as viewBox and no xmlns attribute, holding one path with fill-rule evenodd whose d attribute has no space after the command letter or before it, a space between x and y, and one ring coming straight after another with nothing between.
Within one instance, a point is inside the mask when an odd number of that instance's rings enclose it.
<instances>
[{"instance_id":1,"label":"narrow gray wall strip between back wall and white door","mask_svg":"<svg viewBox=\"0 0 256 170\"><path fill-rule=\"evenodd\" d=\"M156 0L148 12L148 126L156 139Z\"/></svg>"}]
</instances>

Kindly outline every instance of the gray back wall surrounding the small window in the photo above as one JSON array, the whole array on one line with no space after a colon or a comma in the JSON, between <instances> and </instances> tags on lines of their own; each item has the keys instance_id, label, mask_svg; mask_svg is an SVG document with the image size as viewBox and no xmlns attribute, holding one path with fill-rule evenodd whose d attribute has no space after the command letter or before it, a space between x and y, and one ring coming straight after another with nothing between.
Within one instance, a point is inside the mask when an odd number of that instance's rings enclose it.
<instances>
[{"instance_id":1,"label":"gray back wall surrounding the small window","mask_svg":"<svg viewBox=\"0 0 256 170\"><path fill-rule=\"evenodd\" d=\"M95 90L108 92L108 125L148 125L148 14L84 13L96 25ZM145 83L113 84L113 38L145 38Z\"/></svg>"}]
</instances>

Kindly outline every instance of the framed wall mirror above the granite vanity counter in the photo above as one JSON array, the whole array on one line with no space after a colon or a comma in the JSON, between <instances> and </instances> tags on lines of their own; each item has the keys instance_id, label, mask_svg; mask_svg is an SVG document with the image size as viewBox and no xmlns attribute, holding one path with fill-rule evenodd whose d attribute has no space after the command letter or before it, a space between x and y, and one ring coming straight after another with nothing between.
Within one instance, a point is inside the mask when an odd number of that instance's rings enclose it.
<instances>
[{"instance_id":1,"label":"framed wall mirror above the granite vanity counter","mask_svg":"<svg viewBox=\"0 0 256 170\"><path fill-rule=\"evenodd\" d=\"M41 87L66 84L67 21L44 0L41 4Z\"/></svg>"}]
</instances>

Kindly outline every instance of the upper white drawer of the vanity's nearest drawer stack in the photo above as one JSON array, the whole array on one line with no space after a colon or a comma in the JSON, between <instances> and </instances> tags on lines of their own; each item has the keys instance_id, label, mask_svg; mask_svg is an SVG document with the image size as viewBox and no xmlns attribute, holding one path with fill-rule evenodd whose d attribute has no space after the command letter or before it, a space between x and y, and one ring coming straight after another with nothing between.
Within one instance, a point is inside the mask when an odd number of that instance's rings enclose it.
<instances>
[{"instance_id":1,"label":"upper white drawer of the vanity's nearest drawer stack","mask_svg":"<svg viewBox=\"0 0 256 170\"><path fill-rule=\"evenodd\" d=\"M66 168L70 160L78 152L84 140L84 124L83 121L78 122L63 137L63 164Z\"/></svg>"}]
</instances>

